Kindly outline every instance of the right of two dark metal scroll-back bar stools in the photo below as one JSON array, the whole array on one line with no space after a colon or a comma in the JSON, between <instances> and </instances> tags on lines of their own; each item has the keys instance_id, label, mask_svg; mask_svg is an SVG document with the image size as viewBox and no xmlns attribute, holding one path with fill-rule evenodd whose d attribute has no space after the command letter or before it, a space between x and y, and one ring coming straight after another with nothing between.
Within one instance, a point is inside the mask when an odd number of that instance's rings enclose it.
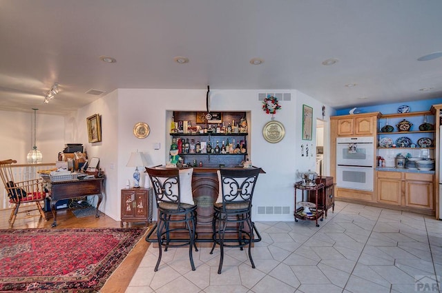
<instances>
[{"instance_id":1,"label":"right of two dark metal scroll-back bar stools","mask_svg":"<svg viewBox=\"0 0 442 293\"><path fill-rule=\"evenodd\" d=\"M213 205L215 210L212 221L213 246L210 252L210 254L213 253L215 245L220 245L218 274L221 274L222 270L224 246L240 247L242 250L248 245L251 267L255 268L251 257L251 243L254 242L253 230L255 230L251 221L251 203L260 171L260 168L220 169L218 171L219 195ZM226 233L231 232L238 234L238 238L226 239Z\"/></svg>"}]
</instances>

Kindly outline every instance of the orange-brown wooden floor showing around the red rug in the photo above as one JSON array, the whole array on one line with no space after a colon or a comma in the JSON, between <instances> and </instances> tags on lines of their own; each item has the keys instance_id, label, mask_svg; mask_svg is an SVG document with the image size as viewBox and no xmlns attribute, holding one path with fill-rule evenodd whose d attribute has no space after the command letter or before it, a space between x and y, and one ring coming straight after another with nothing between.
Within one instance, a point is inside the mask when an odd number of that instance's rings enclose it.
<instances>
[{"instance_id":1,"label":"orange-brown wooden floor showing around the red rug","mask_svg":"<svg viewBox=\"0 0 442 293\"><path fill-rule=\"evenodd\" d=\"M9 223L8 219L10 216L10 210L0 210L0 229L8 229ZM86 216L84 218L77 218L71 210L62 209L57 211L57 227L52 228L52 213L46 213L45 221L39 216L27 218L27 219L16 219L13 229L23 229L23 228L48 228L48 229L64 229L64 228L120 228L120 222L113 220L111 217L106 216L106 214L101 213L99 218L95 216ZM141 227L144 223L129 223L129 227ZM126 223L124 223L126 227ZM113 272L111 278L108 279L101 293L116 293L125 292L126 287L131 282L132 276L137 270L140 261L143 259L146 250L148 249L148 243L144 241L144 236L141 241L131 250L131 252L126 256L123 263L119 265L117 270Z\"/></svg>"}]
</instances>

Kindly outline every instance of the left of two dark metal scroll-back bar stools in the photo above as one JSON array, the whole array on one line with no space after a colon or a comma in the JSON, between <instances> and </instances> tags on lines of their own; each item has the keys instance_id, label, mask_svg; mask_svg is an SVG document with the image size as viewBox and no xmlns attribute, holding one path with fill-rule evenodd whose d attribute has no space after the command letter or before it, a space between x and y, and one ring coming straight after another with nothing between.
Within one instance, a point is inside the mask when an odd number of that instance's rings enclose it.
<instances>
[{"instance_id":1,"label":"left of two dark metal scroll-back bar stools","mask_svg":"<svg viewBox=\"0 0 442 293\"><path fill-rule=\"evenodd\" d=\"M156 228L156 241L160 252L157 265L155 265L155 272L161 262L162 246L164 246L164 252L166 252L169 246L189 245L189 259L192 270L195 270L192 248L195 247L195 251L198 251L198 248L195 244L197 205L193 202L192 196L193 169L146 168L146 172L151 178L158 210L157 223L146 236L146 241L153 242L150 236ZM189 233L189 237L186 236L185 239L171 237L171 232L178 232L179 234L182 231Z\"/></svg>"}]
</instances>

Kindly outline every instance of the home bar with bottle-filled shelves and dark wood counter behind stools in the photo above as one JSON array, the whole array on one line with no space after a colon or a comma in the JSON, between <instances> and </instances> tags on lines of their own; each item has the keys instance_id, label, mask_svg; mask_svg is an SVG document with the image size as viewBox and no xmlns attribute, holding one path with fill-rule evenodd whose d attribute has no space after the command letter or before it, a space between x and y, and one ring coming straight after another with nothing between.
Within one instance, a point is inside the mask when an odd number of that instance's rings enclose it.
<instances>
[{"instance_id":1,"label":"home bar with bottle-filled shelves and dark wood counter behind stools","mask_svg":"<svg viewBox=\"0 0 442 293\"><path fill-rule=\"evenodd\" d=\"M171 113L169 158L166 168L193 168L192 195L197 205L195 242L210 246L213 238L213 204L219 196L220 168L256 168L249 160L250 145L247 112L178 112ZM166 140L167 141L167 140ZM264 172L261 170L261 172ZM246 228L247 230L247 228ZM260 240L255 233L255 241ZM186 239L179 230L172 238ZM228 239L238 234L228 233ZM155 235L153 242L155 243ZM206 243L204 245L204 243Z\"/></svg>"}]
</instances>

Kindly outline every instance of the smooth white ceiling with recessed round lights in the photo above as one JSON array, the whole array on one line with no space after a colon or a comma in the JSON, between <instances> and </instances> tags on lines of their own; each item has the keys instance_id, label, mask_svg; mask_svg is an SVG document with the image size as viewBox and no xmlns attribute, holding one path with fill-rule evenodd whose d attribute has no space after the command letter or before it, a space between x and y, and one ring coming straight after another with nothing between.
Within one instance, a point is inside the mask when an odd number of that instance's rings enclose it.
<instances>
[{"instance_id":1,"label":"smooth white ceiling with recessed round lights","mask_svg":"<svg viewBox=\"0 0 442 293\"><path fill-rule=\"evenodd\" d=\"M117 88L207 85L296 89L337 109L439 98L442 58L417 59L442 51L441 12L440 0L0 0L0 110L67 114Z\"/></svg>"}]
</instances>

